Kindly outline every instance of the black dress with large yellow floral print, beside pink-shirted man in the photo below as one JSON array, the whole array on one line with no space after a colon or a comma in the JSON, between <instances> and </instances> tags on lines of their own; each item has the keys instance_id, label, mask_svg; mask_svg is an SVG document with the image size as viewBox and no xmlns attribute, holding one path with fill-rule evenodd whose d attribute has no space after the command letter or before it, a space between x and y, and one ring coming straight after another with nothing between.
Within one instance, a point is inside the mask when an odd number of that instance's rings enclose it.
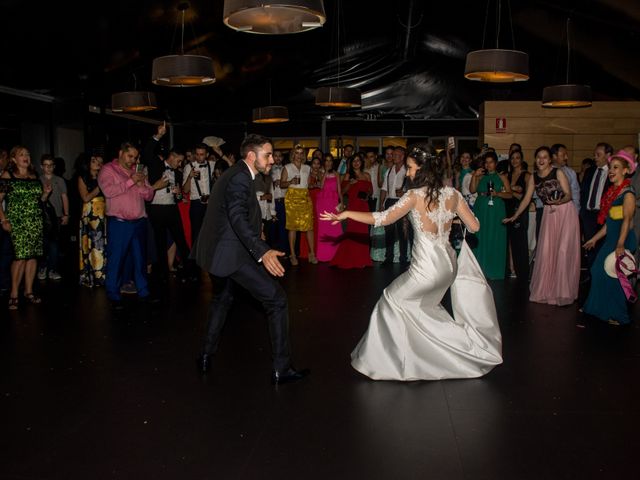
<instances>
[{"instance_id":1,"label":"black dress with large yellow floral print, beside pink-shirted man","mask_svg":"<svg viewBox=\"0 0 640 480\"><path fill-rule=\"evenodd\" d=\"M90 175L82 177L88 191L98 186ZM80 284L86 287L104 285L107 269L107 221L102 192L82 205L80 218Z\"/></svg>"}]
</instances>

